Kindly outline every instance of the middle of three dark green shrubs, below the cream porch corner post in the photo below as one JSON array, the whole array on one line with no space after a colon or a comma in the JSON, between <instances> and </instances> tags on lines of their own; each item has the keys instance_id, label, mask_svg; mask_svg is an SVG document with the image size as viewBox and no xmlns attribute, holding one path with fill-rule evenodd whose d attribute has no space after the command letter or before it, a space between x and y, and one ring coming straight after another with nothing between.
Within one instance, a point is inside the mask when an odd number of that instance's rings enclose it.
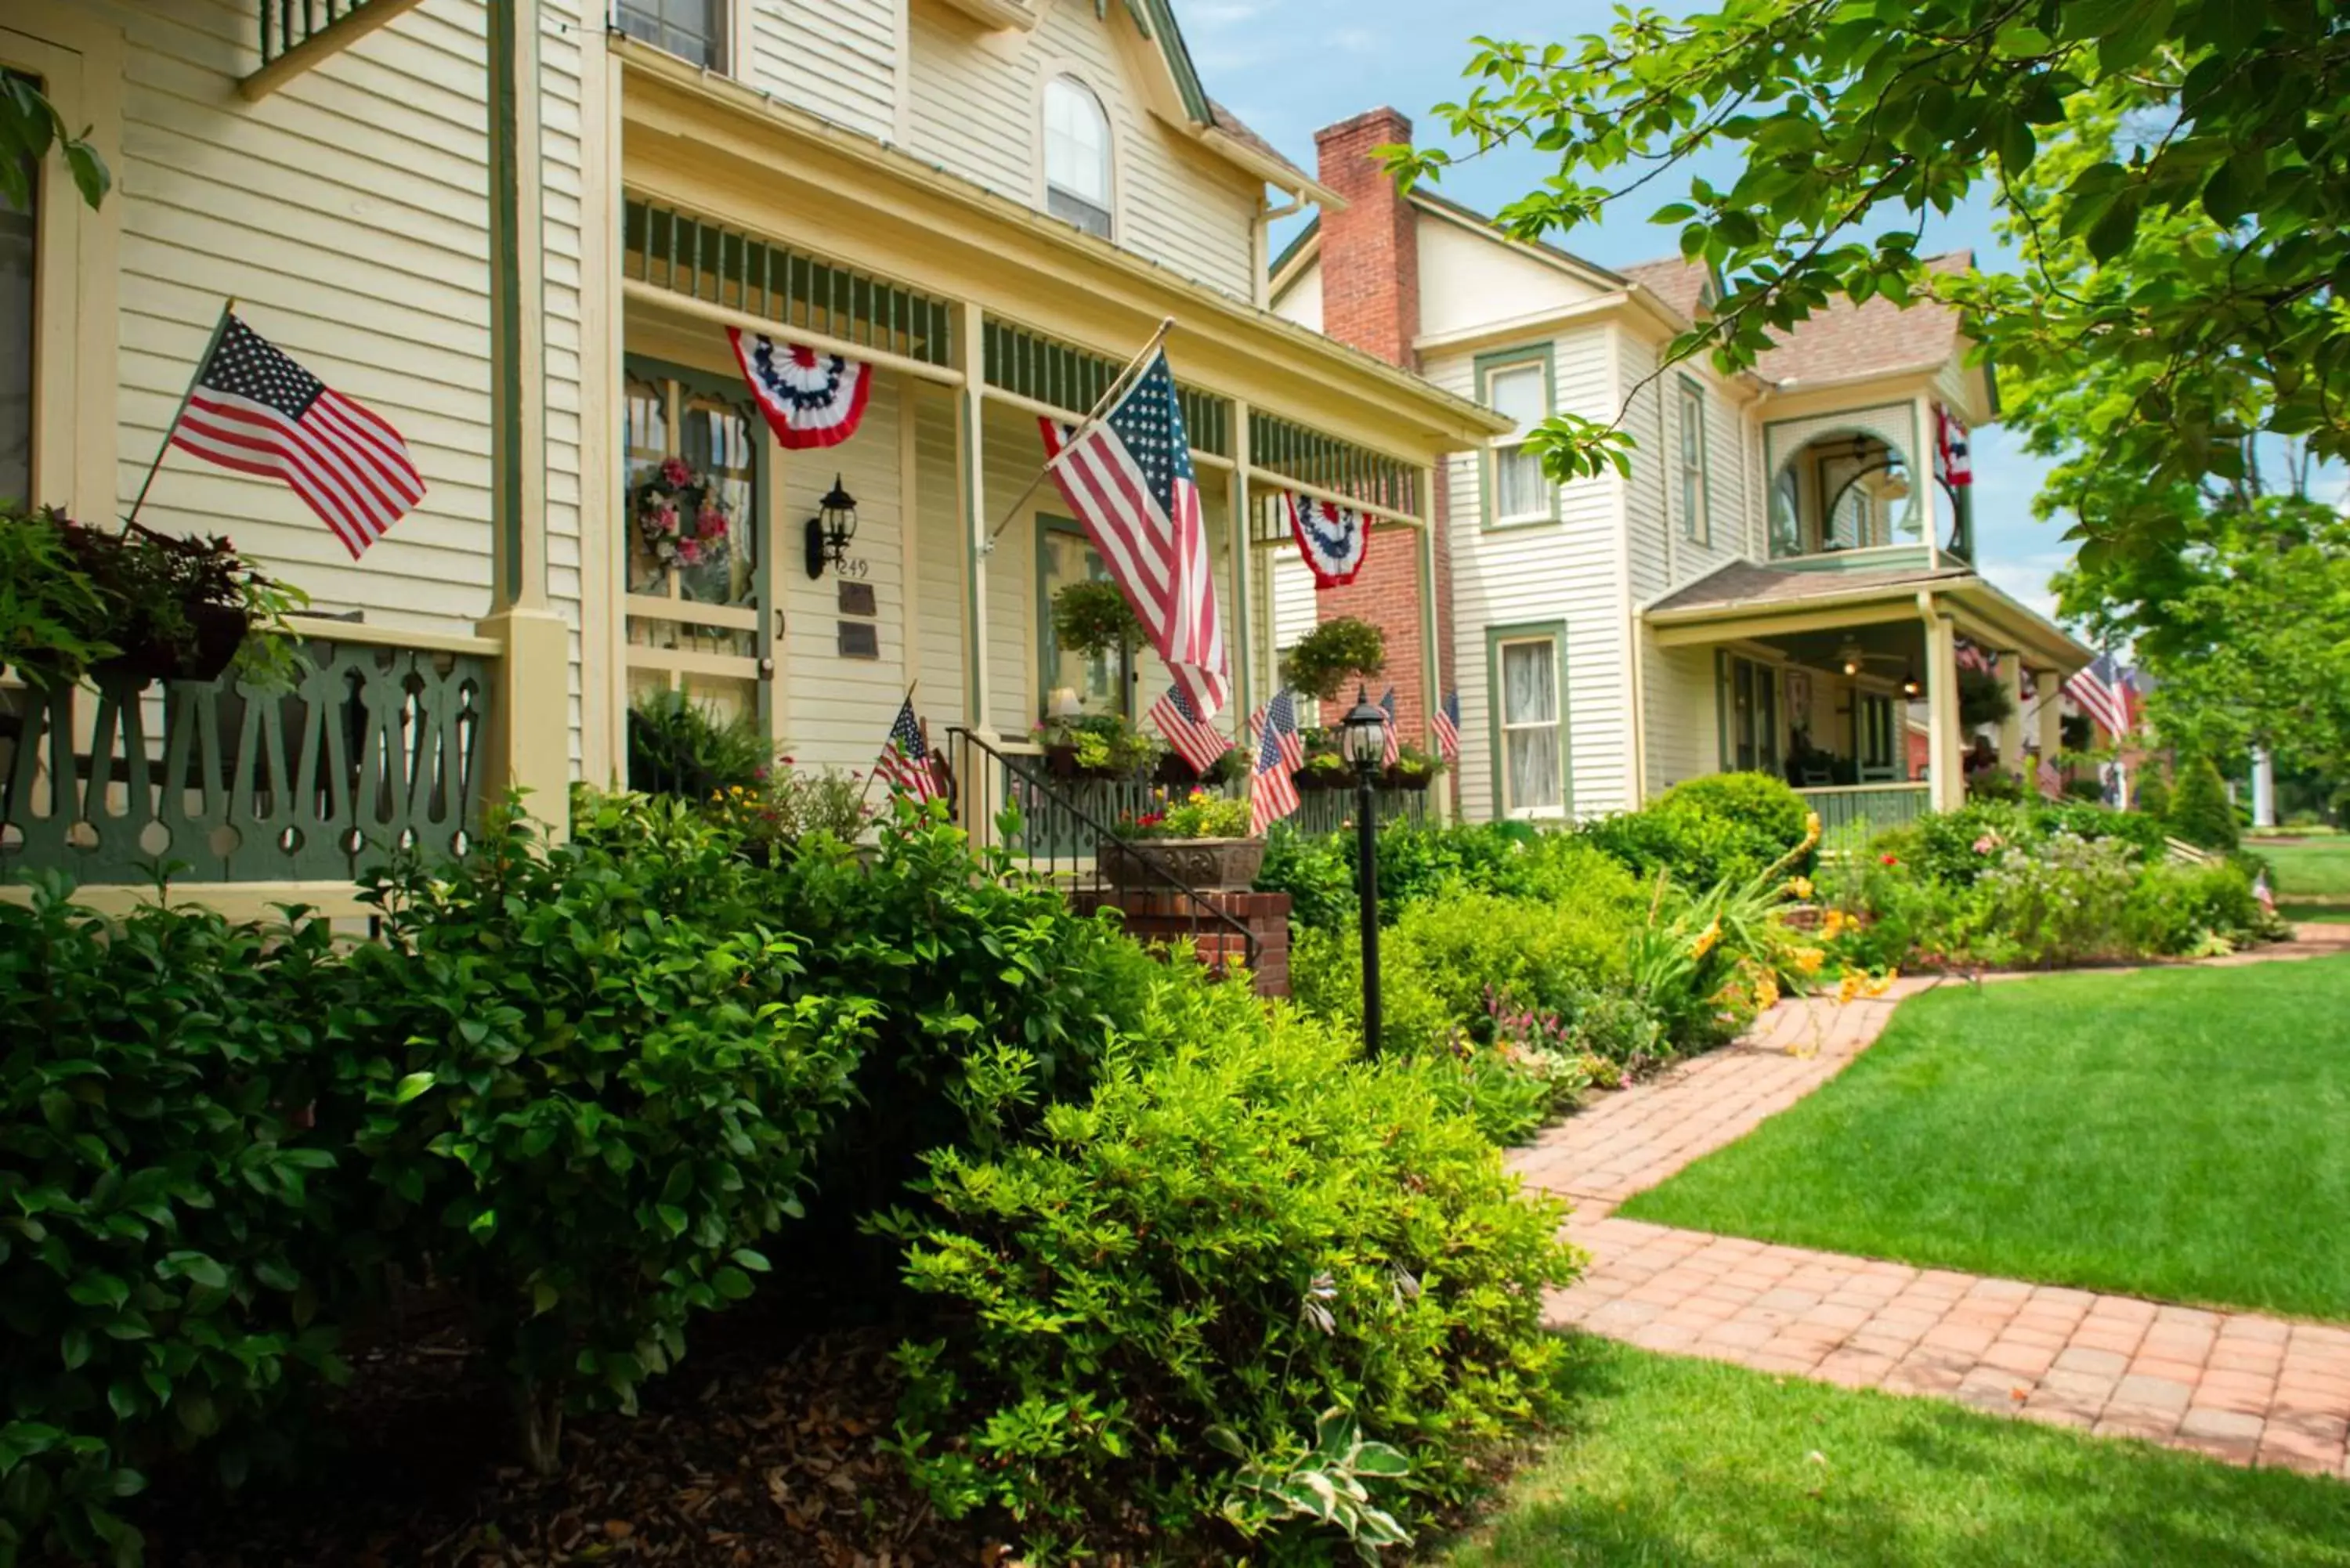
<instances>
[{"instance_id":1,"label":"middle of three dark green shrubs, below the cream porch corner post","mask_svg":"<svg viewBox=\"0 0 2350 1568\"><path fill-rule=\"evenodd\" d=\"M808 994L801 943L740 922L750 875L682 804L552 849L508 804L458 865L369 882L355 1143L540 1472L569 1403L632 1408L691 1314L752 1293L848 1098L874 1004Z\"/></svg>"}]
</instances>

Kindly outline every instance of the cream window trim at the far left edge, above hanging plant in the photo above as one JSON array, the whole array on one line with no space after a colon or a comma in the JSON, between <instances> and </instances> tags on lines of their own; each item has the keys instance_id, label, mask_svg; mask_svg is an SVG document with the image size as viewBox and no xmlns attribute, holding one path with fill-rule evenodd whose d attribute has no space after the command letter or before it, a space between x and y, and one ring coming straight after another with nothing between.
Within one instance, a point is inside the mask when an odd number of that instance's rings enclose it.
<instances>
[{"instance_id":1,"label":"cream window trim at the far left edge, above hanging plant","mask_svg":"<svg viewBox=\"0 0 2350 1568\"><path fill-rule=\"evenodd\" d=\"M115 512L118 249L122 235L122 31L56 0L14 0L0 24L0 66L42 92L106 160L115 188L92 212L52 148L35 195L33 501L82 522ZM188 343L188 355L202 336Z\"/></svg>"}]
</instances>

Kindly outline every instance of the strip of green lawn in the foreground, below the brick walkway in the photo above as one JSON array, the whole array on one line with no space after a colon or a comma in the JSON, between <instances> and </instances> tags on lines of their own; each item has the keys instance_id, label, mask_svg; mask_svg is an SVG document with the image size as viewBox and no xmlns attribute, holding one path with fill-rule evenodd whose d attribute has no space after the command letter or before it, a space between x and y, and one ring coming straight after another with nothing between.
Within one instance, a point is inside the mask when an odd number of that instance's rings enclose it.
<instances>
[{"instance_id":1,"label":"strip of green lawn in the foreground, below the brick walkway","mask_svg":"<svg viewBox=\"0 0 2350 1568\"><path fill-rule=\"evenodd\" d=\"M2350 1566L2350 1486L1577 1340L1579 1418L1448 1568Z\"/></svg>"}]
</instances>

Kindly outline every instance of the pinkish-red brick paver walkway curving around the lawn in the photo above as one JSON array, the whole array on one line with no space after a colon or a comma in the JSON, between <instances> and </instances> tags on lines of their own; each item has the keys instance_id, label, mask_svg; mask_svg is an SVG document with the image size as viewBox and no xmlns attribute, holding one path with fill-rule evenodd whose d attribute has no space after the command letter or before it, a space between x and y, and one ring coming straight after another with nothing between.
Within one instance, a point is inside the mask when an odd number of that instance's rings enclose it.
<instances>
[{"instance_id":1,"label":"pinkish-red brick paver walkway curving around the lawn","mask_svg":"<svg viewBox=\"0 0 2350 1568\"><path fill-rule=\"evenodd\" d=\"M2230 961L2350 952L2350 926ZM1781 1001L1739 1044L1605 1095L1511 1157L1574 1201L1591 1272L1549 1316L1647 1349L1939 1394L2237 1465L2350 1479L2350 1328L1981 1279L1624 1220L1633 1192L1748 1133L1866 1051L1901 997Z\"/></svg>"}]
</instances>

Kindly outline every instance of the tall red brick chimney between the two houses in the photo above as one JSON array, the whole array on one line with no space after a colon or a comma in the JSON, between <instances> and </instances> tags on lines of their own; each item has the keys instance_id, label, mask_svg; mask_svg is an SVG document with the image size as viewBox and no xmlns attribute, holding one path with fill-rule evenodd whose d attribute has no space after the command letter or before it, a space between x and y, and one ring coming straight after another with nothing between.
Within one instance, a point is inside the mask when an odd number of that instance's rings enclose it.
<instances>
[{"instance_id":1,"label":"tall red brick chimney between the two houses","mask_svg":"<svg viewBox=\"0 0 2350 1568\"><path fill-rule=\"evenodd\" d=\"M1347 212L1321 214L1323 334L1368 355L1419 369L1419 226L1410 200L1372 155L1412 139L1412 122L1394 108L1372 108L1314 132L1321 183L1347 197ZM1403 738L1426 745L1426 698L1419 649L1419 538L1412 529L1379 527L1370 559L1344 588L1316 595L1314 618L1358 616L1386 632L1386 675L1372 701L1396 689ZM1443 468L1436 470L1436 646L1438 672L1452 670L1452 550L1445 538ZM1335 719L1340 703L1325 719Z\"/></svg>"}]
</instances>

